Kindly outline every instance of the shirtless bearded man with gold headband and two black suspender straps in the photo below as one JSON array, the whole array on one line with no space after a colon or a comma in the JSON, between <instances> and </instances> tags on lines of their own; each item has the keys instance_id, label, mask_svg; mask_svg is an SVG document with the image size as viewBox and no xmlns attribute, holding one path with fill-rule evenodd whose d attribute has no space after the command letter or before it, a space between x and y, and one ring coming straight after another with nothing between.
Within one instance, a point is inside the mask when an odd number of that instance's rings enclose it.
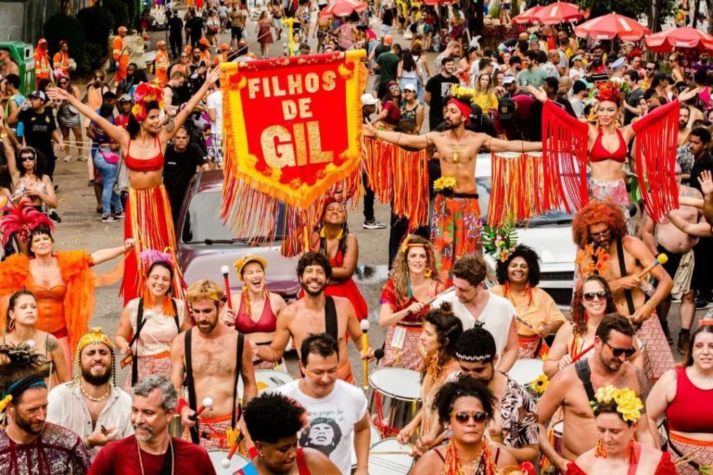
<instances>
[{"instance_id":1,"label":"shirtless bearded man with gold headband and two black suspender straps","mask_svg":"<svg viewBox=\"0 0 713 475\"><path fill-rule=\"evenodd\" d=\"M200 443L204 449L225 449L227 430L235 429L240 419L238 369L245 388L242 402L257 396L250 344L218 320L224 297L220 285L210 280L198 280L188 287L185 298L195 327L171 342L171 381L183 394L185 375L188 388L188 402L178 400L178 414L183 426L190 429L193 443ZM198 332L193 332L195 329ZM242 353L238 355L238 351ZM203 410L196 423L195 411L205 397L213 400L212 407ZM242 430L242 434L247 438L247 431Z\"/></svg>"}]
</instances>

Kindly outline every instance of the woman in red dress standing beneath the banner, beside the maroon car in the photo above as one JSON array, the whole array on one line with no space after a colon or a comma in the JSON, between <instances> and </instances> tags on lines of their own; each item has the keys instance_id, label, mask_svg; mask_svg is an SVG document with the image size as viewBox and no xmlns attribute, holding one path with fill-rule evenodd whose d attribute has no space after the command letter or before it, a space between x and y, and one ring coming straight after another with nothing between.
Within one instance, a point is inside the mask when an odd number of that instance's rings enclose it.
<instances>
[{"instance_id":1,"label":"woman in red dress standing beneath the banner, beside the maroon car","mask_svg":"<svg viewBox=\"0 0 713 475\"><path fill-rule=\"evenodd\" d=\"M349 234L347 210L336 200L327 200L322 215L322 228L319 233L312 233L312 249L329 257L332 264L332 277L329 277L324 295L347 297L354 305L356 318L360 321L369 315L366 300L359 292L359 287L352 279L359 262L359 242ZM300 297L304 290L300 292Z\"/></svg>"}]
</instances>

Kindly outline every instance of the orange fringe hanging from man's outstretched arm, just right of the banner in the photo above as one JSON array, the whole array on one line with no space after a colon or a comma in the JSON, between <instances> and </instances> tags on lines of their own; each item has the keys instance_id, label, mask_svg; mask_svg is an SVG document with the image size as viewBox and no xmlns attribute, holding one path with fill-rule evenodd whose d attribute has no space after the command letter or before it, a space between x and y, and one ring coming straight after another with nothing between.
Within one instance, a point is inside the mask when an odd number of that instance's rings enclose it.
<instances>
[{"instance_id":1,"label":"orange fringe hanging from man's outstretched arm, just right of the banner","mask_svg":"<svg viewBox=\"0 0 713 475\"><path fill-rule=\"evenodd\" d=\"M394 214L409 220L409 232L429 223L429 153L410 151L374 138L361 138L369 188Z\"/></svg>"}]
</instances>

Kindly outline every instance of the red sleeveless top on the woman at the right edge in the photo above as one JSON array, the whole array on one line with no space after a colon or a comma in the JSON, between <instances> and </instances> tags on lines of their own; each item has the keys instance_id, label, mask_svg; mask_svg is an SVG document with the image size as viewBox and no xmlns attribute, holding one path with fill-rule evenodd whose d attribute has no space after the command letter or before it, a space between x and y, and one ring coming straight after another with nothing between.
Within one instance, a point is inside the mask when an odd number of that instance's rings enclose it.
<instances>
[{"instance_id":1,"label":"red sleeveless top on the woman at the right edge","mask_svg":"<svg viewBox=\"0 0 713 475\"><path fill-rule=\"evenodd\" d=\"M666 409L669 429L710 432L713 427L713 389L694 386L685 368L676 369L676 396ZM695 408L692 410L692 408Z\"/></svg>"}]
</instances>

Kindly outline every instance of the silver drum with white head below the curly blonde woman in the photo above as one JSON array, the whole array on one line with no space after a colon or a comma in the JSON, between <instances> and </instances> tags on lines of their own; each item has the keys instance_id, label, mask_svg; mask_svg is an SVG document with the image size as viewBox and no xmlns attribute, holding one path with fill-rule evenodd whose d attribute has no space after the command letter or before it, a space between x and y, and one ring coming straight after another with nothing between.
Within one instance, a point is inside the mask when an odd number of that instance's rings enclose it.
<instances>
[{"instance_id":1,"label":"silver drum with white head below the curly blonde woman","mask_svg":"<svg viewBox=\"0 0 713 475\"><path fill-rule=\"evenodd\" d=\"M380 368L369 375L369 414L384 436L396 436L421 409L418 372L405 368Z\"/></svg>"}]
</instances>

